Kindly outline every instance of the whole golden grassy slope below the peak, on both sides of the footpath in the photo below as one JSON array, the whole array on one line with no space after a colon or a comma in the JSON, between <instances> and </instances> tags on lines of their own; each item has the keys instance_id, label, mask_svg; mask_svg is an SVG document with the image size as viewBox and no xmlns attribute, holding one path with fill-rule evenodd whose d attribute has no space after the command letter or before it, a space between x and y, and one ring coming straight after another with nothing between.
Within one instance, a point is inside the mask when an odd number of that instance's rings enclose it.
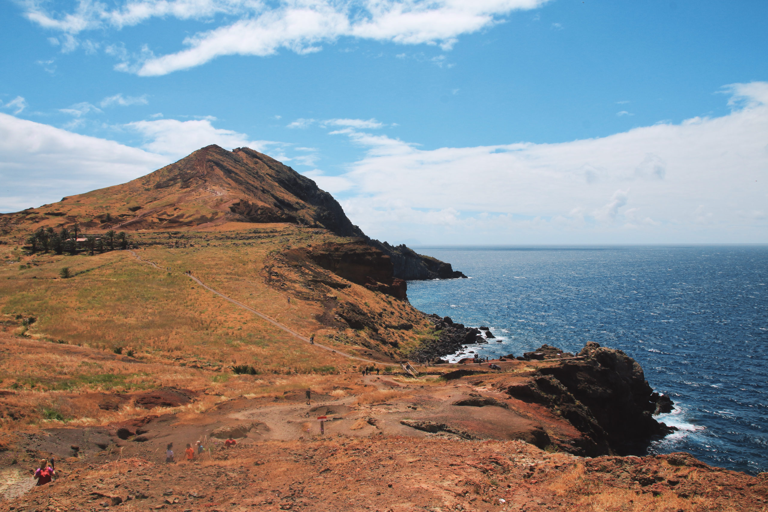
<instances>
[{"instance_id":1,"label":"whole golden grassy slope below the peak, on both sides of the footpath","mask_svg":"<svg viewBox=\"0 0 768 512\"><path fill-rule=\"evenodd\" d=\"M378 355L381 368L386 366L387 354L366 348L378 346L372 344L367 329L319 324L316 315L323 313L324 299L353 302L372 314L386 312L393 323L412 322L412 331L389 332L401 342L401 351L390 351L393 355L402 356L419 339L431 335L423 315L407 302L357 285L338 290L315 284L308 289L280 253L308 243L343 240L325 230L230 223L173 233L131 233L132 243L138 246L135 252L169 268L170 273L127 251L30 256L12 243L0 245L0 331L5 332L0 342L0 389L16 393L0 397L4 404L0 416L5 416L8 428L13 428L12 418L25 408L29 411L20 424L34 424L51 408L66 418L105 421L114 416L99 411L96 398L73 405L73 399L67 398L73 393L174 385L231 396L234 389L258 393L273 388L274 382L258 383L264 375L288 375L286 382L293 383L288 388L301 387L311 378L308 374L320 378L329 372L356 371L361 364L308 345L201 289L184 276L186 270L303 335L315 333L325 345ZM58 278L65 266L74 273L71 279ZM269 282L265 269L269 269ZM273 273L280 278L271 277ZM29 317L35 322L22 325ZM71 345L90 349L90 355L61 352ZM115 359L114 347L123 348L124 355L133 350L141 364ZM233 375L230 366L243 364L253 365L260 375Z\"/></svg>"}]
</instances>

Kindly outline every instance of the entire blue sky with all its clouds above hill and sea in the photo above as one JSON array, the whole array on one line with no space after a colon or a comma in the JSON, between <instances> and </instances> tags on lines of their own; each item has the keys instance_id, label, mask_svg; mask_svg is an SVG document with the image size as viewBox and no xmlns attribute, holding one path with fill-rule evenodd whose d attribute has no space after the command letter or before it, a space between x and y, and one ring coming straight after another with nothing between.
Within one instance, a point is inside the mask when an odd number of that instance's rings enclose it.
<instances>
[{"instance_id":1,"label":"entire blue sky with all its clouds above hill and sea","mask_svg":"<svg viewBox=\"0 0 768 512\"><path fill-rule=\"evenodd\" d=\"M215 143L393 242L768 243L766 2L6 0L0 20L0 211Z\"/></svg>"}]
</instances>

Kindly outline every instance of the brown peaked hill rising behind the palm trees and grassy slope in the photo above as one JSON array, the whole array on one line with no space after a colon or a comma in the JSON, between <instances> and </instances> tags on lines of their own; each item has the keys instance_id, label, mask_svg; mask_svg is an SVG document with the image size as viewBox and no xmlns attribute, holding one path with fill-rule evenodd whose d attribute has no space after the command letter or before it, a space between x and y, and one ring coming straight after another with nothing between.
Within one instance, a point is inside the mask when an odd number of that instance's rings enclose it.
<instances>
[{"instance_id":1,"label":"brown peaked hill rising behind the palm trees and grassy slope","mask_svg":"<svg viewBox=\"0 0 768 512\"><path fill-rule=\"evenodd\" d=\"M78 223L91 230L168 230L226 222L293 223L362 236L316 183L247 147L215 144L121 185L0 216L4 234Z\"/></svg>"}]
</instances>

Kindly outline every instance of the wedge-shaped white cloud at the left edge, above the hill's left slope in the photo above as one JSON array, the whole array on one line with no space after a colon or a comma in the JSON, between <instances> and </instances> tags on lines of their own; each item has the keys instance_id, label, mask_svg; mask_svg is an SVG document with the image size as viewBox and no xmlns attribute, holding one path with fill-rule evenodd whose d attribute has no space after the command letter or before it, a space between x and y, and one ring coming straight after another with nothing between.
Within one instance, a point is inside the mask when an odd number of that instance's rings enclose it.
<instances>
[{"instance_id":1,"label":"wedge-shaped white cloud at the left edge, above the hill's left slope","mask_svg":"<svg viewBox=\"0 0 768 512\"><path fill-rule=\"evenodd\" d=\"M170 161L114 140L0 114L0 211L123 183Z\"/></svg>"}]
</instances>

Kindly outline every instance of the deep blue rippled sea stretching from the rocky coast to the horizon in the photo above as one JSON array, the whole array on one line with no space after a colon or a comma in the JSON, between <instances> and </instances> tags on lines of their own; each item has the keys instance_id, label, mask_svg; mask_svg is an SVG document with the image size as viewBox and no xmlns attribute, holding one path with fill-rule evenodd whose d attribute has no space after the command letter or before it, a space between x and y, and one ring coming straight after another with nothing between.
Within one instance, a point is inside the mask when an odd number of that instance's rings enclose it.
<instances>
[{"instance_id":1,"label":"deep blue rippled sea stretching from the rocky coast to the horizon","mask_svg":"<svg viewBox=\"0 0 768 512\"><path fill-rule=\"evenodd\" d=\"M768 471L768 246L416 250L471 279L409 282L413 306L500 337L464 352L521 355L543 343L578 352L588 341L619 348L675 401L659 419L680 431L651 453Z\"/></svg>"}]
</instances>

